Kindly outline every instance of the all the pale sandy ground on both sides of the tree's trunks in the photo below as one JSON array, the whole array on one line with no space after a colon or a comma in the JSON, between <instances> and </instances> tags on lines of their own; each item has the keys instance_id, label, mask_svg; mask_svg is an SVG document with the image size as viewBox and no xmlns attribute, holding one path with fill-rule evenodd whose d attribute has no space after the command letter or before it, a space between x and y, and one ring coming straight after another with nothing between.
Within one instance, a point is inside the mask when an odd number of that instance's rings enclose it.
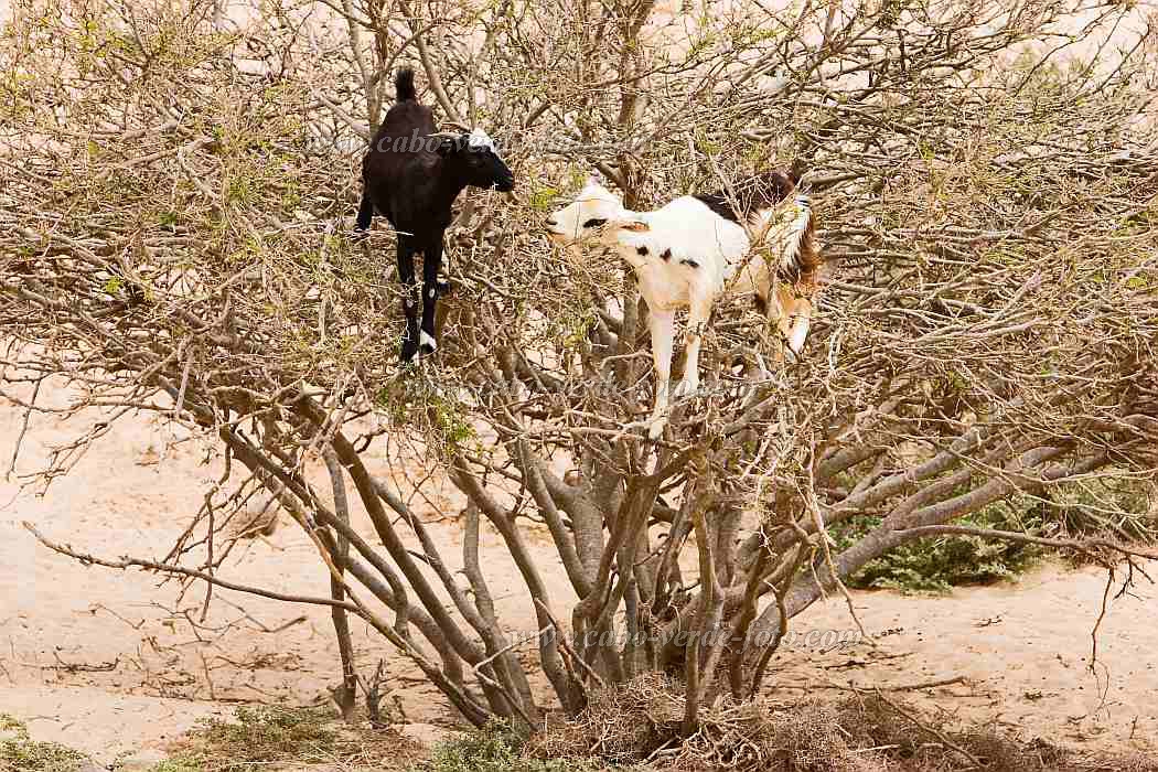
<instances>
[{"instance_id":1,"label":"all the pale sandy ground on both sides of the tree's trunks","mask_svg":"<svg viewBox=\"0 0 1158 772\"><path fill-rule=\"evenodd\" d=\"M67 392L42 391L64 405ZM22 411L0 403L0 464L7 469ZM76 427L34 417L17 472L36 469ZM201 619L204 587L182 595L138 571L85 567L37 544L21 527L102 557L160 557L199 506L221 459L193 442L167 448L155 424L119 422L43 497L0 481L0 712L28 721L34 736L57 740L108 763L162 749L206 715L237 703L316 704L337 682L329 612L291 608L239 593L214 593ZM416 502L435 538L460 544L453 493L432 483ZM571 602L544 535L529 539L545 564L556 602ZM521 582L498 539L485 534L483 565L512 630L534 630ZM230 557L228 578L276 590L324 595L325 575L292 524L254 539ZM222 572L225 575L225 569ZM1144 580L1117 600L1098 637L1102 573L1047 566L1017 584L967 588L951 597L853 593L872 642L859 640L842 598L798 618L796 638L768 679L777 697L805 689L837 697L849 683L913 685L962 677L909 692L962 721L997 721L1023 736L1087 748L1158 748L1158 603ZM359 664L387 663L394 698L409 721L450 726L445 700L415 669L356 624ZM844 640L837 645L837 640ZM420 727L416 727L420 729Z\"/></svg>"}]
</instances>

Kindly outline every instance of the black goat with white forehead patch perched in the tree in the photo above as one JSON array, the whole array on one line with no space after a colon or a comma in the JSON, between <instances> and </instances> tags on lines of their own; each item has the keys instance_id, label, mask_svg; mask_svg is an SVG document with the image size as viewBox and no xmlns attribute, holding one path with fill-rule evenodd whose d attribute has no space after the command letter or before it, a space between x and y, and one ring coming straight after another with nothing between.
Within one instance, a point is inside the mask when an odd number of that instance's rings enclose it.
<instances>
[{"instance_id":1,"label":"black goat with white forehead patch perched in the tree","mask_svg":"<svg viewBox=\"0 0 1158 772\"><path fill-rule=\"evenodd\" d=\"M511 191L514 175L484 131L437 131L431 109L416 100L413 69L400 69L394 86L397 104L386 113L362 159L362 200L357 229L369 228L376 211L386 215L398 234L398 279L405 292L406 314L402 361L410 361L419 351L432 354L438 347L434 339L438 271L442 265L442 234L450 225L454 199L468 185ZM413 260L418 252L423 253L420 330Z\"/></svg>"}]
</instances>

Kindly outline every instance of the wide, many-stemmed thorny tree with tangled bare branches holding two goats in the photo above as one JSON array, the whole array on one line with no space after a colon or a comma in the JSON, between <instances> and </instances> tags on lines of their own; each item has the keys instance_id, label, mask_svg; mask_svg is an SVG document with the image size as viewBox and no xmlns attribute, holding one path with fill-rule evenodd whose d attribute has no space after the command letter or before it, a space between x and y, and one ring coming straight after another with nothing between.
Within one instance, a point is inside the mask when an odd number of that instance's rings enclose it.
<instances>
[{"instance_id":1,"label":"wide, many-stemmed thorny tree with tangled bare branches holding two goats","mask_svg":"<svg viewBox=\"0 0 1158 772\"><path fill-rule=\"evenodd\" d=\"M347 689L353 613L470 721L534 723L549 706L491 601L488 522L551 633L538 666L558 704L574 714L595 684L667 670L689 728L705 697L753 693L792 616L889 549L976 532L952 523L1014 495L1152 479L1153 17L692 6L15 2L3 395L36 410L41 381L64 376L78 411L108 414L35 479L151 411L213 436L233 478L184 538L163 561L109 565L229 586L243 578L219 573L217 534L267 491L332 578L313 601L332 606ZM442 347L408 372L393 236L345 235L403 61L444 118L497 134L519 177L512 197L463 197ZM805 355L750 375L738 362L772 361L769 333L747 302L720 303L705 389L648 444L631 277L552 251L537 222L593 168L643 207L792 162L831 265ZM425 448L464 494L461 556L368 468L387 440ZM358 507L373 536L350 524ZM879 524L831 547L826 529L862 515ZM548 591L533 520L574 608ZM1106 565L1145 552L1038 541Z\"/></svg>"}]
</instances>

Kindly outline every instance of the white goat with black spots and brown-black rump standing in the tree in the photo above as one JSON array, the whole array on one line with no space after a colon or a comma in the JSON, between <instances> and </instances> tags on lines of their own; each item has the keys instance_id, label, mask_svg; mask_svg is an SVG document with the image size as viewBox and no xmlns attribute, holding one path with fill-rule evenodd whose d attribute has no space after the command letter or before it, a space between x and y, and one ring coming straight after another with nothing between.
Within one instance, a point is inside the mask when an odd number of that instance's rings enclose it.
<instances>
[{"instance_id":1,"label":"white goat with black spots and brown-black rump standing in the tree","mask_svg":"<svg viewBox=\"0 0 1158 772\"><path fill-rule=\"evenodd\" d=\"M647 301L657 377L650 439L658 440L667 424L676 310L688 309L687 363L675 389L682 397L699 388L701 338L712 303L733 277L730 288L754 292L757 304L776 319L784 343L799 354L808 334L821 258L808 199L792 197L794 190L790 176L770 172L736 185L731 197L723 191L683 196L653 212L632 212L592 177L569 206L547 219L555 242L609 247L636 272L639 294ZM749 230L767 251L745 263L752 248ZM778 256L775 294L763 253ZM783 358L782 350L777 358Z\"/></svg>"}]
</instances>

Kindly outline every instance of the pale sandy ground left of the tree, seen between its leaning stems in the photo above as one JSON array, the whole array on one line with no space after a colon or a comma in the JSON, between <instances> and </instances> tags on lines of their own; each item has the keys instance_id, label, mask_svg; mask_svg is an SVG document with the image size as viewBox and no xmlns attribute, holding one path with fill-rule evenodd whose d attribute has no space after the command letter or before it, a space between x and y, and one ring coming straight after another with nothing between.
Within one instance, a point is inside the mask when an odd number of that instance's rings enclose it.
<instances>
[{"instance_id":1,"label":"pale sandy ground left of the tree, seen between its leaning stems","mask_svg":"<svg viewBox=\"0 0 1158 772\"><path fill-rule=\"evenodd\" d=\"M67 400L66 390L45 387L37 404L63 407ZM328 700L327 686L338 677L327 608L217 590L206 609L204 584L182 594L176 583L137 569L86 567L23 529L30 521L49 538L102 558L161 560L221 475L223 462L211 449L174 443L168 429L142 419L113 424L44 495L21 490L22 472L43 468L53 446L69 442L95 418L34 416L16 473L5 480L23 411L0 398L0 712L29 720L37 737L107 760L159 748L197 719L227 714L239 703ZM383 473L386 464L378 461ZM423 500L412 503L440 545L461 554L461 530L447 520L461 503L449 485L430 480ZM364 513L354 517L361 532L373 532ZM222 578L328 596L328 575L292 521L239 544ZM533 610L499 545L498 535L484 528L481 549L500 617L513 631L533 632ZM548 541L535 537L530 546L543 565L558 568L555 597L570 605L574 596ZM360 668L369 675L386 660L390 701L406 719L453 722L447 703L417 668L365 623L351 624Z\"/></svg>"}]
</instances>

